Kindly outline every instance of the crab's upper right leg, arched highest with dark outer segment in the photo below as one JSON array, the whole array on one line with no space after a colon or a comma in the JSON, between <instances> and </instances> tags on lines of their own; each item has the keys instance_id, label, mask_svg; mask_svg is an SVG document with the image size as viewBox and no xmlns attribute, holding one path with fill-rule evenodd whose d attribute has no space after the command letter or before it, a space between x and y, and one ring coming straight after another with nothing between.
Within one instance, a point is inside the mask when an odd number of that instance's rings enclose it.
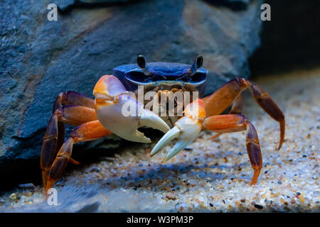
<instances>
[{"instance_id":1,"label":"crab's upper right leg, arched highest with dark outer segment","mask_svg":"<svg viewBox=\"0 0 320 227\"><path fill-rule=\"evenodd\" d=\"M250 82L247 79L235 78L230 80L228 83L220 87L215 93L210 96L203 98L203 104L206 108L207 116L215 116L221 114L225 109L232 104L232 102L237 98L237 96L245 89L250 89L252 96L257 101L257 104L261 106L262 109L267 112L275 121L279 122L280 125L280 142L279 148L281 148L284 140L284 114L279 109L277 104L271 99L271 97L254 82ZM237 105L236 105L237 106ZM235 107L235 111L237 111Z\"/></svg>"}]
</instances>

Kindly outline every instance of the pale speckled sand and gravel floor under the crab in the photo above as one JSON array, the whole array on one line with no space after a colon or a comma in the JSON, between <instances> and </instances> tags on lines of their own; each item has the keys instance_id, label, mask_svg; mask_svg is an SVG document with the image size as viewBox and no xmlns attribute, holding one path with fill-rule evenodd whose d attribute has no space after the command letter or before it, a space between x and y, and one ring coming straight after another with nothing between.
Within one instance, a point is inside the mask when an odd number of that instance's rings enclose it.
<instances>
[{"instance_id":1,"label":"pale speckled sand and gravel floor under the crab","mask_svg":"<svg viewBox=\"0 0 320 227\"><path fill-rule=\"evenodd\" d=\"M257 129L263 168L250 186L252 168L245 132L210 140L207 131L161 164L174 142L154 157L155 145L119 151L55 184L58 205L49 206L41 186L0 197L2 212L319 212L320 69L257 79L286 116L281 150L279 125L245 92L247 116Z\"/></svg>"}]
</instances>

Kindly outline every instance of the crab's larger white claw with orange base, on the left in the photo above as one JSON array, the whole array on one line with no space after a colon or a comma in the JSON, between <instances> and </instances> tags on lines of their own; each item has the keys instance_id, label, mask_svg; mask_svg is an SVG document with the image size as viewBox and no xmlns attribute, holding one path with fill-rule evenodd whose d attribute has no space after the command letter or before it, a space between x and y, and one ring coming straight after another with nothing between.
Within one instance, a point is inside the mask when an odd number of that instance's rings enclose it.
<instances>
[{"instance_id":1,"label":"crab's larger white claw with orange base, on the left","mask_svg":"<svg viewBox=\"0 0 320 227\"><path fill-rule=\"evenodd\" d=\"M137 129L149 126L166 133L169 126L153 112L144 109L144 105L128 92L122 82L113 75L99 79L93 89L95 95L95 113L108 131L126 140L151 143L144 133Z\"/></svg>"}]
</instances>

